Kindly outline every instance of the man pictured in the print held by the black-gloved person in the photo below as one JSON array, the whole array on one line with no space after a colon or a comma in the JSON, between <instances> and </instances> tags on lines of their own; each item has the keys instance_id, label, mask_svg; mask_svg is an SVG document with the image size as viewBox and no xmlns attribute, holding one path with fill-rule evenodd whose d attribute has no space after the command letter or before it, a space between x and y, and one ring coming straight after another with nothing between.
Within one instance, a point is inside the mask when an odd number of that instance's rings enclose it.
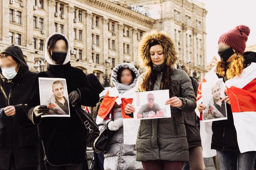
<instances>
[{"instance_id":1,"label":"man pictured in the print held by the black-gloved person","mask_svg":"<svg viewBox=\"0 0 256 170\"><path fill-rule=\"evenodd\" d=\"M52 84L52 97L47 101L50 108L49 114L69 114L68 98L64 96L64 85L61 81L54 81Z\"/></svg>"}]
</instances>

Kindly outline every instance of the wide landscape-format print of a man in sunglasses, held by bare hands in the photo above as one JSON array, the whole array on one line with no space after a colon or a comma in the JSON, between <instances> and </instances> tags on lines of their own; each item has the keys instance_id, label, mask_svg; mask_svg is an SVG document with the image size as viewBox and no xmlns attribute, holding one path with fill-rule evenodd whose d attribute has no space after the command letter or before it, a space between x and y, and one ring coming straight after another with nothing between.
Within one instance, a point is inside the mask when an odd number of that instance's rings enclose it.
<instances>
[{"instance_id":1,"label":"wide landscape-format print of a man in sunglasses, held by bare hands","mask_svg":"<svg viewBox=\"0 0 256 170\"><path fill-rule=\"evenodd\" d=\"M138 92L133 98L134 119L170 118L170 105L165 105L169 99L169 90Z\"/></svg>"}]
</instances>

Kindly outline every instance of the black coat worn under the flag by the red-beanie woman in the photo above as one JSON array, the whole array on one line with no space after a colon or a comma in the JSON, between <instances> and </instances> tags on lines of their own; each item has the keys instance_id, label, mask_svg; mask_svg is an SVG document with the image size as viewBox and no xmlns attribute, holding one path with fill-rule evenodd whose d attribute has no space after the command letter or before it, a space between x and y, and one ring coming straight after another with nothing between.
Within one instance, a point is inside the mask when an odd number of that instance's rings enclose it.
<instances>
[{"instance_id":1,"label":"black coat worn under the flag by the red-beanie woman","mask_svg":"<svg viewBox=\"0 0 256 170\"><path fill-rule=\"evenodd\" d=\"M245 67L256 62L256 52L245 52ZM219 77L223 78L223 77ZM225 79L223 79L225 81ZM227 120L213 121L212 124L212 149L223 152L240 152L237 142L236 129L234 126L233 114L229 104L226 104Z\"/></svg>"}]
</instances>

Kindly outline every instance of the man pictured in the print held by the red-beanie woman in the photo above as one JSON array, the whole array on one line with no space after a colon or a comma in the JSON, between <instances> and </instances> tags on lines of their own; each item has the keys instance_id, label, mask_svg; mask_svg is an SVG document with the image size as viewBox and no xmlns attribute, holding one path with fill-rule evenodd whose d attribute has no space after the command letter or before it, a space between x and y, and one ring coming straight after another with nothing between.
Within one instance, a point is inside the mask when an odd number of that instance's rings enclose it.
<instances>
[{"instance_id":1,"label":"man pictured in the print held by the red-beanie woman","mask_svg":"<svg viewBox=\"0 0 256 170\"><path fill-rule=\"evenodd\" d=\"M221 87L218 82L212 86L212 95L208 103L208 112L204 112L204 120L226 117L225 101L220 97Z\"/></svg>"}]
</instances>

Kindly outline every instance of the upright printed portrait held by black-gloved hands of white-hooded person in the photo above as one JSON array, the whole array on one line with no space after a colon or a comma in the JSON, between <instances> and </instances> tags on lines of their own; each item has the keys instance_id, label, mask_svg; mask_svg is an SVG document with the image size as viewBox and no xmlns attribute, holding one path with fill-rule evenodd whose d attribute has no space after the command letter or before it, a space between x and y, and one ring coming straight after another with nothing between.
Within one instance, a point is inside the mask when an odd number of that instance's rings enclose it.
<instances>
[{"instance_id":1,"label":"upright printed portrait held by black-gloved hands of white-hooded person","mask_svg":"<svg viewBox=\"0 0 256 170\"><path fill-rule=\"evenodd\" d=\"M61 78L38 78L40 104L50 110L41 117L70 117L66 80Z\"/></svg>"}]
</instances>

